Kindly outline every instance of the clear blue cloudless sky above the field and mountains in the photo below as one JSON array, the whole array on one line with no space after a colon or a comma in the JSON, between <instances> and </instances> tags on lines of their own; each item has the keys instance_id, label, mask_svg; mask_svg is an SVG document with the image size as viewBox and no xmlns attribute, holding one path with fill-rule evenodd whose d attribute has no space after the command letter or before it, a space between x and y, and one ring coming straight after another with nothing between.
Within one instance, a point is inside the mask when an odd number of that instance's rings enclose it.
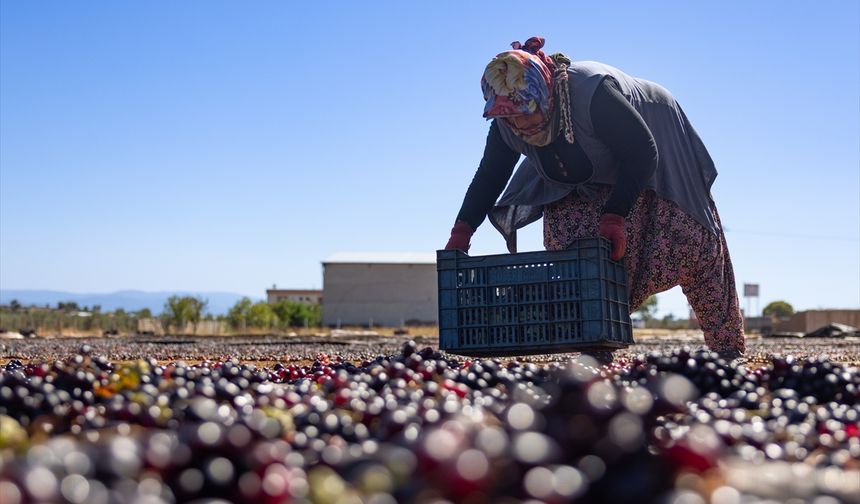
<instances>
[{"instance_id":1,"label":"clear blue cloudless sky above the field and mountains","mask_svg":"<svg viewBox=\"0 0 860 504\"><path fill-rule=\"evenodd\" d=\"M260 297L335 252L441 248L483 68L532 35L675 94L761 307L860 307L856 0L3 0L0 287ZM472 253L504 251L485 223Z\"/></svg>"}]
</instances>

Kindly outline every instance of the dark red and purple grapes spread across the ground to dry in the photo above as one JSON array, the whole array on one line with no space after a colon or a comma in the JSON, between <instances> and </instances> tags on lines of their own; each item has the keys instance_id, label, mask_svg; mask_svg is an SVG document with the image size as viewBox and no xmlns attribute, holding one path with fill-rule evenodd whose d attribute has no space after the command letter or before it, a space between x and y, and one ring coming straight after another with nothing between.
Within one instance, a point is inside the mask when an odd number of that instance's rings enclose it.
<instances>
[{"instance_id":1,"label":"dark red and purple grapes spread across the ground to dry","mask_svg":"<svg viewBox=\"0 0 860 504\"><path fill-rule=\"evenodd\" d=\"M860 340L0 341L0 502L860 502Z\"/></svg>"}]
</instances>

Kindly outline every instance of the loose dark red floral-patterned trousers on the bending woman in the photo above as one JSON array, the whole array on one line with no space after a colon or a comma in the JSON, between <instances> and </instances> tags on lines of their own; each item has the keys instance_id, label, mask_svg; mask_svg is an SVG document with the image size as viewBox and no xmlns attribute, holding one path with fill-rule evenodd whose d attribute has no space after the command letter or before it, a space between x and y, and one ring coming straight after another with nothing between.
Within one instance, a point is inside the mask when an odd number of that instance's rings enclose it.
<instances>
[{"instance_id":1,"label":"loose dark red floral-patterned trousers on the bending woman","mask_svg":"<svg viewBox=\"0 0 860 504\"><path fill-rule=\"evenodd\" d=\"M577 238L597 236L600 212L611 187L593 197L570 194L544 207L544 245L564 250ZM625 222L630 311L649 296L681 286L711 350L744 350L743 318L726 237L712 204L719 234L711 233L674 202L643 191Z\"/></svg>"}]
</instances>

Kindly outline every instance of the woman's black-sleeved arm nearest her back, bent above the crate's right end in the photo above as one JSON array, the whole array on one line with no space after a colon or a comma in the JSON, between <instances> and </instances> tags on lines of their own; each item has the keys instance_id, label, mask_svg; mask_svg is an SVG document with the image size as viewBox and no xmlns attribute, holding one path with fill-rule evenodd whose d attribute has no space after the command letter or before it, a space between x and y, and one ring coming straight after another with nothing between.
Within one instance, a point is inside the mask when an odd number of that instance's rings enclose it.
<instances>
[{"instance_id":1,"label":"woman's black-sleeved arm nearest her back, bent above the crate's right end","mask_svg":"<svg viewBox=\"0 0 860 504\"><path fill-rule=\"evenodd\" d=\"M626 217L657 169L657 144L642 116L611 78L603 80L591 99L591 122L597 137L618 161L618 179L603 212Z\"/></svg>"}]
</instances>

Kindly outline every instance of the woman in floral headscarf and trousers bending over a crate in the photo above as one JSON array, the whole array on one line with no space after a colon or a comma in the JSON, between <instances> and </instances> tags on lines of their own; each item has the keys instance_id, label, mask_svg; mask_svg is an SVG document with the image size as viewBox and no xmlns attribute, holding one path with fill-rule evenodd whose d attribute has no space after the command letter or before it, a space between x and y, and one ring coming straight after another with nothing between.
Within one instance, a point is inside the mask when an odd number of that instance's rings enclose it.
<instances>
[{"instance_id":1,"label":"woman in floral headscarf and trousers bending over a crate","mask_svg":"<svg viewBox=\"0 0 860 504\"><path fill-rule=\"evenodd\" d=\"M653 82L547 56L543 44L514 42L484 71L484 117L493 121L445 248L468 251L487 215L512 253L516 230L541 216L548 250L599 234L612 242L613 260L624 258L631 310L680 285L708 347L743 353L734 272L710 194L717 171L681 107Z\"/></svg>"}]
</instances>

